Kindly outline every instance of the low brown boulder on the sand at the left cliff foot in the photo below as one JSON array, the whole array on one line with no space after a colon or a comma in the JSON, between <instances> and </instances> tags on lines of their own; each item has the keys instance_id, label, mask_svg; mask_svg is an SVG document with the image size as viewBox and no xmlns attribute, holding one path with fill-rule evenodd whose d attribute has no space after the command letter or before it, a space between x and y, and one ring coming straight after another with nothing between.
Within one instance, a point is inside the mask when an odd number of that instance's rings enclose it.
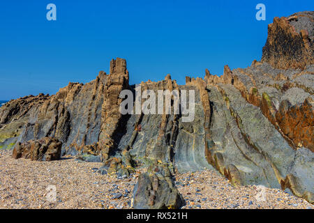
<instances>
[{"instance_id":1,"label":"low brown boulder on the sand at the left cliff foot","mask_svg":"<svg viewBox=\"0 0 314 223\"><path fill-rule=\"evenodd\" d=\"M13 149L13 158L52 161L60 160L62 143L50 137L17 143Z\"/></svg>"}]
</instances>

